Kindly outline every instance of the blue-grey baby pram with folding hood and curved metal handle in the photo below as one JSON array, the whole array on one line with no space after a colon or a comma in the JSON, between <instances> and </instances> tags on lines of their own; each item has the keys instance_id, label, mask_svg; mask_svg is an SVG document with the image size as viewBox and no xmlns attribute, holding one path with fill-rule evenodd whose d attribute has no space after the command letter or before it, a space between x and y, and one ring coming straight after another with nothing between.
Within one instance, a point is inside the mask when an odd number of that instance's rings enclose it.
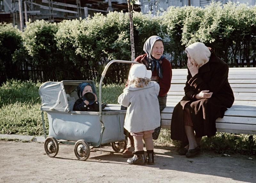
<instances>
[{"instance_id":1,"label":"blue-grey baby pram with folding hood and curved metal handle","mask_svg":"<svg viewBox=\"0 0 256 183\"><path fill-rule=\"evenodd\" d=\"M101 85L108 67L113 62L138 63L131 61L113 60L109 62L100 78L99 112L73 111L78 98L76 87L82 82L92 84L93 81L60 81L45 82L39 88L41 97L41 115L44 129L44 150L49 157L55 157L59 152L59 143L75 144L74 151L77 159L85 161L90 156L90 146L111 143L116 152L126 148L124 136L125 110L105 110L101 107ZM49 135L46 138L44 112L49 121Z\"/></svg>"}]
</instances>

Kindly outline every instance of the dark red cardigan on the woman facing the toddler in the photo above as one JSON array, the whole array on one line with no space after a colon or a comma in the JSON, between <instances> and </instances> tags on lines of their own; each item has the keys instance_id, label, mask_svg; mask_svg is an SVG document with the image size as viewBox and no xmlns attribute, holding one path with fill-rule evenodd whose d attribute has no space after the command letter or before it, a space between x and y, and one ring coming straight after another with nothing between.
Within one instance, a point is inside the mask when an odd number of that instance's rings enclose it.
<instances>
[{"instance_id":1,"label":"dark red cardigan on the woman facing the toddler","mask_svg":"<svg viewBox=\"0 0 256 183\"><path fill-rule=\"evenodd\" d=\"M147 70L150 70L148 68L148 62L147 62L147 54L144 55L140 55L138 56L134 61L135 62L139 62L139 63L143 63L144 65L146 65ZM156 67L154 69L154 71L152 72L152 77L158 79L157 83L160 85L160 91L158 94L158 97L163 97L167 94L167 92L169 91L170 87L171 87L171 80L172 80L172 66L171 63L164 58L162 60L161 63L162 66L162 73L163 73L163 78L160 78L158 76L158 73L156 72ZM128 83L129 81L127 81ZM127 86L127 84L126 84Z\"/></svg>"}]
</instances>

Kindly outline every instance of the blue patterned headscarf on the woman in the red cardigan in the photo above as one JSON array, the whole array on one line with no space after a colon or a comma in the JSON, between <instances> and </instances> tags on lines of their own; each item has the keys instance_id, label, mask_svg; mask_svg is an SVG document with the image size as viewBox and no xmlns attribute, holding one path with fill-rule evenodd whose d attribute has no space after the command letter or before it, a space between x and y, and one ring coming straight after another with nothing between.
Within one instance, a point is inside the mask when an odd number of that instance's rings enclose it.
<instances>
[{"instance_id":1,"label":"blue patterned headscarf on the woman in the red cardigan","mask_svg":"<svg viewBox=\"0 0 256 183\"><path fill-rule=\"evenodd\" d=\"M162 63L162 59L164 58L164 56L162 55L160 59L155 59L151 55L152 48L157 40L163 41L163 45L164 45L164 40L160 36L151 36L144 43L143 50L147 54L148 63L151 63L151 71L153 72L153 70L155 69L155 66L156 66L158 76L160 78L163 78L161 63Z\"/></svg>"}]
</instances>

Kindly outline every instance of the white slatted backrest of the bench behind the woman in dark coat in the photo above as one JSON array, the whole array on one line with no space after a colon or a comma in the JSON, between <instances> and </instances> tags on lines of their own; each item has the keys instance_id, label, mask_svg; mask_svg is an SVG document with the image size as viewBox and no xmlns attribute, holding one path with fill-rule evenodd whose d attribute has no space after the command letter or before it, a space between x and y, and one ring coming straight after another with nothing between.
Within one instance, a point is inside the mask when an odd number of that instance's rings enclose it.
<instances>
[{"instance_id":1,"label":"white slatted backrest of the bench behind the woman in dark coat","mask_svg":"<svg viewBox=\"0 0 256 183\"><path fill-rule=\"evenodd\" d=\"M187 69L173 69L167 106L175 106L184 96ZM256 106L256 68L229 68L228 81L234 92L234 105Z\"/></svg>"}]
</instances>

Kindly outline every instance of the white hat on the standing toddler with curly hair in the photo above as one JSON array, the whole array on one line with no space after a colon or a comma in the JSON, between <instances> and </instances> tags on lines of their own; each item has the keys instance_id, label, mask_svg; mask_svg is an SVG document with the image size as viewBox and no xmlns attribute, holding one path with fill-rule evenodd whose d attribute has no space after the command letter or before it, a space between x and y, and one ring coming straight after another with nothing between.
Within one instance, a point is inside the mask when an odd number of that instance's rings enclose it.
<instances>
[{"instance_id":1,"label":"white hat on the standing toddler with curly hair","mask_svg":"<svg viewBox=\"0 0 256 183\"><path fill-rule=\"evenodd\" d=\"M130 72L129 72L128 79L130 81L135 79L136 77L139 77L139 78L147 77L150 79L151 76L152 76L151 70L147 70L146 66L142 63L136 63L132 65L132 68L130 69Z\"/></svg>"}]
</instances>

